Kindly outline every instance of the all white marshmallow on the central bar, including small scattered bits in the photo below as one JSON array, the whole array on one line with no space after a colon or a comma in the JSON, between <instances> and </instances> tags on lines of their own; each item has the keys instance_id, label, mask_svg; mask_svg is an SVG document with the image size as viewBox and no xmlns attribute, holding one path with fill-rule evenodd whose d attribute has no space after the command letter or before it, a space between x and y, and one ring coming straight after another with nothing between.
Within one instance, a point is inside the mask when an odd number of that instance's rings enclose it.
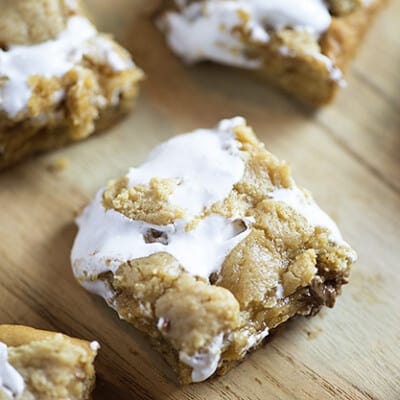
<instances>
[{"instance_id":1,"label":"all white marshmallow on the central bar, including small scattered bits","mask_svg":"<svg viewBox=\"0 0 400 400\"><path fill-rule=\"evenodd\" d=\"M250 234L254 222L244 215L226 218L204 213L226 199L234 185L244 178L246 162L235 129L245 124L243 118L236 117L221 121L214 129L176 136L157 146L141 166L128 172L128 187L149 184L153 178L178 182L168 201L170 205L184 209L185 217L171 224L150 224L106 208L103 203L106 189L101 189L77 219L79 231L71 262L74 275L82 286L102 296L118 311L112 291L98 277L104 272L115 274L124 262L166 252L193 276L208 280L212 273L219 273L226 257ZM294 209L310 226L328 229L333 242L345 244L332 219L294 181L289 188L275 188L268 197ZM188 229L196 218L197 223ZM157 237L162 240L148 242L146 234L149 231L158 232ZM160 318L157 326L163 324L164 320ZM266 328L249 334L244 351L256 346L268 332ZM226 334L220 332L209 348L194 355L179 352L180 361L192 368L193 382L203 381L216 371Z\"/></svg>"}]
</instances>

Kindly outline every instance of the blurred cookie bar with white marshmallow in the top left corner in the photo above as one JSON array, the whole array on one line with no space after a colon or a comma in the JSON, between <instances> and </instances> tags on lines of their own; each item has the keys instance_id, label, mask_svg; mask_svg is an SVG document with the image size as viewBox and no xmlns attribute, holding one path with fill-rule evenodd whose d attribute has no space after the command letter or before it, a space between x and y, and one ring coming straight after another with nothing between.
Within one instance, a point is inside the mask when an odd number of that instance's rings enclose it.
<instances>
[{"instance_id":1,"label":"blurred cookie bar with white marshmallow in the top left corner","mask_svg":"<svg viewBox=\"0 0 400 400\"><path fill-rule=\"evenodd\" d=\"M0 0L0 169L131 110L143 73L79 1Z\"/></svg>"}]
</instances>

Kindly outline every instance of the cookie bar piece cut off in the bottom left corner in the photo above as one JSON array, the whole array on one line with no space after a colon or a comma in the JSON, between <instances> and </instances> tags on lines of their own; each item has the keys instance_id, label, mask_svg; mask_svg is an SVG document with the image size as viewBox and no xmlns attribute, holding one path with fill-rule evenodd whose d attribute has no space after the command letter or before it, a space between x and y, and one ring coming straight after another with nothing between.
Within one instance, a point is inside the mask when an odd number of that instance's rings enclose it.
<instances>
[{"instance_id":1,"label":"cookie bar piece cut off in the bottom left corner","mask_svg":"<svg viewBox=\"0 0 400 400\"><path fill-rule=\"evenodd\" d=\"M60 333L0 325L0 399L88 400L98 348Z\"/></svg>"}]
</instances>

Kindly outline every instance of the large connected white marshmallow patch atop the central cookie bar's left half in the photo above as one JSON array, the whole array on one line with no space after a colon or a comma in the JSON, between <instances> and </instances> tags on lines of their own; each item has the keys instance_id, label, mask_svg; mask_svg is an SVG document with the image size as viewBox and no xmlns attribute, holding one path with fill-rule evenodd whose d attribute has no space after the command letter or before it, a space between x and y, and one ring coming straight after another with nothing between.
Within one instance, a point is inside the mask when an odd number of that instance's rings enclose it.
<instances>
[{"instance_id":1,"label":"large connected white marshmallow patch atop the central cookie bar's left half","mask_svg":"<svg viewBox=\"0 0 400 400\"><path fill-rule=\"evenodd\" d=\"M100 190L77 220L72 265L78 279L115 272L125 261L158 252L170 253L192 275L208 278L218 272L225 257L249 233L251 221L211 214L194 229L187 231L186 226L205 208L224 200L243 176L244 162L233 133L241 121L226 120L214 130L177 136L156 147L141 167L129 171L130 186L149 183L155 177L177 179L179 185L169 201L185 209L186 218L169 225L135 221L104 209L104 189ZM150 230L160 232L166 243L146 242Z\"/></svg>"}]
</instances>

